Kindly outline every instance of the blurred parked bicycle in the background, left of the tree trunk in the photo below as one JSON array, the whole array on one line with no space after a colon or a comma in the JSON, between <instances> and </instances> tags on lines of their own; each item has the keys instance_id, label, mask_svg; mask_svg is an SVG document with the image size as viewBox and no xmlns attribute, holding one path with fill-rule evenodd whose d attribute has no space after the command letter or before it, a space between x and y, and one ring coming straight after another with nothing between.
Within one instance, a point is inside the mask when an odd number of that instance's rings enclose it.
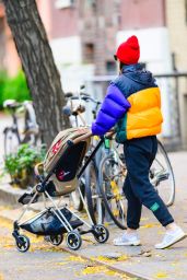
<instances>
[{"instance_id":1,"label":"blurred parked bicycle in the background, left of the tree trunk","mask_svg":"<svg viewBox=\"0 0 187 280\"><path fill-rule=\"evenodd\" d=\"M30 143L32 145L38 144L40 140L38 125L36 122L35 110L32 102L25 101L19 103L14 100L7 100L3 107L8 109L12 117L12 125L5 127L4 133L4 155L16 152L22 143ZM24 129L20 132L17 112L24 110Z\"/></svg>"}]
</instances>

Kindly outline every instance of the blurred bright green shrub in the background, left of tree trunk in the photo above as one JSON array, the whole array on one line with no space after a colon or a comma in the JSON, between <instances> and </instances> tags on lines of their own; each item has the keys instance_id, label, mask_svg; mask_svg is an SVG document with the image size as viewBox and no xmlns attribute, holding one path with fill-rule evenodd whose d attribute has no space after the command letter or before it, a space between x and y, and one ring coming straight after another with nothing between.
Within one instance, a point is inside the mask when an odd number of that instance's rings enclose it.
<instances>
[{"instance_id":1,"label":"blurred bright green shrub in the background, left of tree trunk","mask_svg":"<svg viewBox=\"0 0 187 280\"><path fill-rule=\"evenodd\" d=\"M31 100L23 71L20 71L14 78L9 78L4 72L0 73L0 96L1 108L5 100L15 100L17 102Z\"/></svg>"}]
</instances>

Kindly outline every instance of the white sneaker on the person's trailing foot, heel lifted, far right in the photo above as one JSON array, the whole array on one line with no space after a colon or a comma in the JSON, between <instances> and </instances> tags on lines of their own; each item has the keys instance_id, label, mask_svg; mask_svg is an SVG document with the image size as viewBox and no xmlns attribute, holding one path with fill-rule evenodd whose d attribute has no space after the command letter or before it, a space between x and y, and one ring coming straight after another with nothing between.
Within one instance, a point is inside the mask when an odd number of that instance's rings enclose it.
<instances>
[{"instance_id":1,"label":"white sneaker on the person's trailing foot, heel lifted, far right","mask_svg":"<svg viewBox=\"0 0 187 280\"><path fill-rule=\"evenodd\" d=\"M184 238L186 238L186 234L179 226L176 226L174 231L166 232L163 241L156 244L154 247L156 249L165 249L174 245L175 243L183 241Z\"/></svg>"}]
</instances>

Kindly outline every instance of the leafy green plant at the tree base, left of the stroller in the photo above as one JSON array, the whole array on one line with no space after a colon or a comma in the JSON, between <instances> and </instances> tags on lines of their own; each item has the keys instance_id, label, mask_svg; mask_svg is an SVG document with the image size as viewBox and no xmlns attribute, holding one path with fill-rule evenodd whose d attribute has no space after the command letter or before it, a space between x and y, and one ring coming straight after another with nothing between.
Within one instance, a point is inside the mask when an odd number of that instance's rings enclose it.
<instances>
[{"instance_id":1,"label":"leafy green plant at the tree base, left of the stroller","mask_svg":"<svg viewBox=\"0 0 187 280\"><path fill-rule=\"evenodd\" d=\"M11 176L11 184L20 188L35 185L34 166L44 161L45 147L21 144L17 152L4 159L4 171Z\"/></svg>"}]
</instances>

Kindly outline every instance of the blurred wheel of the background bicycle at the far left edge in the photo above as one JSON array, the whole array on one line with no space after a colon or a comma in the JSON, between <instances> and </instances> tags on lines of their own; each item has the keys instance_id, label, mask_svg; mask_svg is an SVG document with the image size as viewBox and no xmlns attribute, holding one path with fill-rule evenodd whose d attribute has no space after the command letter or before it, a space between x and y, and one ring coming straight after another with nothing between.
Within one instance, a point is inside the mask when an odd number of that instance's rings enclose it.
<instances>
[{"instance_id":1,"label":"blurred wheel of the background bicycle at the far left edge","mask_svg":"<svg viewBox=\"0 0 187 280\"><path fill-rule=\"evenodd\" d=\"M17 133L13 128L5 128L4 130L4 155L15 153L20 145Z\"/></svg>"}]
</instances>

